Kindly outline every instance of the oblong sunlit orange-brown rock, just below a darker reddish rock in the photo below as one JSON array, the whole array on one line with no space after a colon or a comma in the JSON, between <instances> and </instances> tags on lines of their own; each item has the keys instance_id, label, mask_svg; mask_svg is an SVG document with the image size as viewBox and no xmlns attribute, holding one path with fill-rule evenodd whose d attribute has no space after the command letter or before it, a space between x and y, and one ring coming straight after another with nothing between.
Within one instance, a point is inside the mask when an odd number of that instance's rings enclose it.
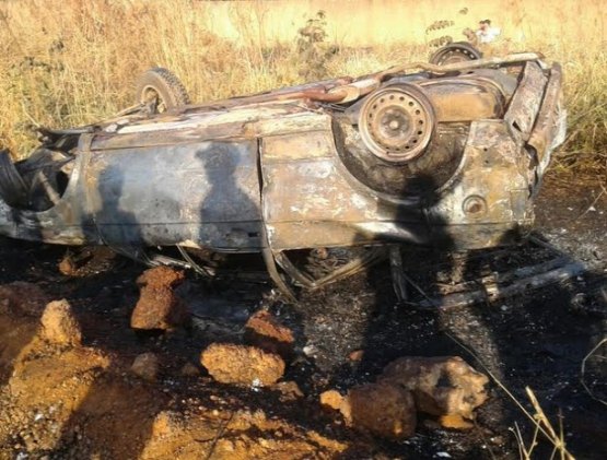
<instances>
[{"instance_id":1,"label":"oblong sunlit orange-brown rock, just below a darker reddish rock","mask_svg":"<svg viewBox=\"0 0 607 460\"><path fill-rule=\"evenodd\" d=\"M270 386L284 374L284 361L255 346L213 343L205 350L200 362L222 384Z\"/></svg>"}]
</instances>

